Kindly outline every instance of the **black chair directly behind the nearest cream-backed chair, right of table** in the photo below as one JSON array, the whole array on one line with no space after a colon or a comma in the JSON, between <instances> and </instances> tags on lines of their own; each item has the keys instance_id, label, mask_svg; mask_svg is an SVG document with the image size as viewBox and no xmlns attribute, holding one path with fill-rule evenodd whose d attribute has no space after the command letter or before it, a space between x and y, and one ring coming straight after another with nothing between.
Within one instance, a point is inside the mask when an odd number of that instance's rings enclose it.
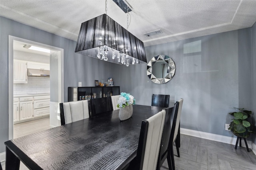
<instances>
[{"instance_id":1,"label":"black chair directly behind the nearest cream-backed chair, right of table","mask_svg":"<svg viewBox=\"0 0 256 170\"><path fill-rule=\"evenodd\" d=\"M171 130L172 130L172 123L174 120L175 114L178 112L178 102L173 107L164 108L166 111L165 121L164 121L164 129L162 134L162 140L161 140L161 146L159 150L158 155L158 164L157 164L157 170L160 170L160 167L164 163L165 159L167 158L169 169L172 169L172 163L171 163L171 157L168 156L169 151L169 143L170 143L170 136L171 136ZM172 147L172 146L171 146Z\"/></svg>"}]
</instances>

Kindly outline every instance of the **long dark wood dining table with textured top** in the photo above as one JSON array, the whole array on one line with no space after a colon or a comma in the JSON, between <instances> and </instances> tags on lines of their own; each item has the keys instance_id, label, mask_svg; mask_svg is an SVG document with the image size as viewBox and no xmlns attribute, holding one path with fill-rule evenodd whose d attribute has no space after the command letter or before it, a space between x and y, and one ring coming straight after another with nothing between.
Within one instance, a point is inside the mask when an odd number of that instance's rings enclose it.
<instances>
[{"instance_id":1,"label":"long dark wood dining table with textured top","mask_svg":"<svg viewBox=\"0 0 256 170\"><path fill-rule=\"evenodd\" d=\"M6 141L6 170L20 161L32 170L116 170L137 153L141 122L162 107L133 105L130 119L119 110Z\"/></svg>"}]
</instances>

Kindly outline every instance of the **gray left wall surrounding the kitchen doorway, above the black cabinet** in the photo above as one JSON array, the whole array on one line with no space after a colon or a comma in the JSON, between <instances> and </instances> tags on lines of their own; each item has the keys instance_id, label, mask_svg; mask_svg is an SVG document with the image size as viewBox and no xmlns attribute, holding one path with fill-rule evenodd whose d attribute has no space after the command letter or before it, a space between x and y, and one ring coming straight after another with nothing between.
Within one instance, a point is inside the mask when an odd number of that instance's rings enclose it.
<instances>
[{"instance_id":1,"label":"gray left wall surrounding the kitchen doorway, above the black cabinet","mask_svg":"<svg viewBox=\"0 0 256 170\"><path fill-rule=\"evenodd\" d=\"M74 53L76 42L0 17L0 152L8 140L8 35L64 49L64 102L68 87L94 86L94 80L111 76L111 63Z\"/></svg>"}]
</instances>

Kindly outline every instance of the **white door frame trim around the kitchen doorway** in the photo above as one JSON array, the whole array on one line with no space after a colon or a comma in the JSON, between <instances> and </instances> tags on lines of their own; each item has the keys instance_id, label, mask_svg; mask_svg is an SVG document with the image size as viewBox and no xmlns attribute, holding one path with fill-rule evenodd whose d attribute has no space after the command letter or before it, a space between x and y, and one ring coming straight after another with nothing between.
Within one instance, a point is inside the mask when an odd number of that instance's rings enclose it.
<instances>
[{"instance_id":1,"label":"white door frame trim around the kitchen doorway","mask_svg":"<svg viewBox=\"0 0 256 170\"><path fill-rule=\"evenodd\" d=\"M61 100L59 102L62 102L64 101L64 71L63 71L63 65L64 65L64 49L61 49L61 48L58 48L58 47L54 47L54 46L51 46L51 45L46 45L46 44L42 44L42 43L38 43L38 42L35 42L35 41L30 41L30 40L27 40L27 39L22 39L22 38L19 38L19 37L14 37L14 36L11 36L9 35L9 63L8 63L8 80L9 80L9 96L8 96L8 102L9 102L9 109L8 109L8 114L9 114L9 140L13 139L13 42L14 41L21 41L21 42L24 42L24 43L28 43L28 44L33 44L33 45L36 45L36 46L41 46L41 47L44 47L44 48L48 48L48 49L51 49L53 51L59 51L60 53L58 53L58 59L60 60L60 72L61 72L61 77L59 77L59 80L58 80L58 84L59 84L59 93L58 93L58 99Z\"/></svg>"}]
</instances>

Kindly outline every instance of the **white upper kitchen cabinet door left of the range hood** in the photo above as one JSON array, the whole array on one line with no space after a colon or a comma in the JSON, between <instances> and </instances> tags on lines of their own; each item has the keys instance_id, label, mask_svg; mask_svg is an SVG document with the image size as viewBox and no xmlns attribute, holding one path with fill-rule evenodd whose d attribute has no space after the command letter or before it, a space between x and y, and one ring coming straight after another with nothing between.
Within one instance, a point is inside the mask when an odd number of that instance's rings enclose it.
<instances>
[{"instance_id":1,"label":"white upper kitchen cabinet door left of the range hood","mask_svg":"<svg viewBox=\"0 0 256 170\"><path fill-rule=\"evenodd\" d=\"M28 69L26 61L13 61L13 83L28 83Z\"/></svg>"}]
</instances>

